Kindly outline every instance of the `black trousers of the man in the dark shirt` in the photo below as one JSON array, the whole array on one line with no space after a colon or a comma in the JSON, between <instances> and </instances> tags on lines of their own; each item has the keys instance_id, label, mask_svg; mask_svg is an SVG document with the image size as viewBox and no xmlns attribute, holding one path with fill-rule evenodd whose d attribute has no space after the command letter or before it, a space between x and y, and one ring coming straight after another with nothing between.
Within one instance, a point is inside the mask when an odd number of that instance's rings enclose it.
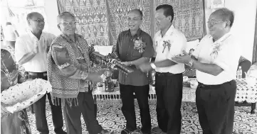
<instances>
[{"instance_id":1,"label":"black trousers of the man in the dark shirt","mask_svg":"<svg viewBox=\"0 0 257 134\"><path fill-rule=\"evenodd\" d=\"M151 116L148 104L149 85L145 86L131 86L120 84L120 96L122 100L122 113L127 121L127 130L133 131L137 129L136 116L135 116L135 93L138 105L140 107L140 116L142 123L142 133L151 132Z\"/></svg>"}]
</instances>

